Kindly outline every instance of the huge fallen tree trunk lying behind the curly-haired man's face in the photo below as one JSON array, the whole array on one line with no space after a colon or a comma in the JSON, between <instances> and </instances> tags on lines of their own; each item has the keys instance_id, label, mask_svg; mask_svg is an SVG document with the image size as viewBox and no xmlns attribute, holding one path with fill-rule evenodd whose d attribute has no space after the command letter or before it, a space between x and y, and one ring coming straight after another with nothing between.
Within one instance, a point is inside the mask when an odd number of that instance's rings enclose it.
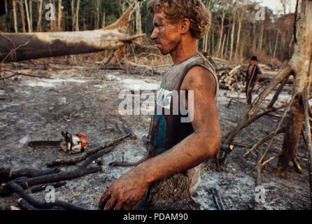
<instances>
[{"instance_id":1,"label":"huge fallen tree trunk lying behind the curly-haired man's face","mask_svg":"<svg viewBox=\"0 0 312 224\"><path fill-rule=\"evenodd\" d=\"M77 55L102 50L115 50L145 35L129 36L132 7L111 26L93 31L38 32L1 34L0 62L19 62L42 57Z\"/></svg>"}]
</instances>

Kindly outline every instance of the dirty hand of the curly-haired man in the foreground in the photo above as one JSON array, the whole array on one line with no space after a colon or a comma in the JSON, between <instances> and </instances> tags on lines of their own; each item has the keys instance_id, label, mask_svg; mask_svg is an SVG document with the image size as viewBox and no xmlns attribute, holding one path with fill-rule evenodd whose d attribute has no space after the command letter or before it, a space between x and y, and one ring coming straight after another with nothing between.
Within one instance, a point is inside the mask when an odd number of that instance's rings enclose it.
<instances>
[{"instance_id":1,"label":"dirty hand of the curly-haired man in the foreground","mask_svg":"<svg viewBox=\"0 0 312 224\"><path fill-rule=\"evenodd\" d=\"M131 210L146 193L148 183L132 169L113 183L99 201L99 209Z\"/></svg>"}]
</instances>

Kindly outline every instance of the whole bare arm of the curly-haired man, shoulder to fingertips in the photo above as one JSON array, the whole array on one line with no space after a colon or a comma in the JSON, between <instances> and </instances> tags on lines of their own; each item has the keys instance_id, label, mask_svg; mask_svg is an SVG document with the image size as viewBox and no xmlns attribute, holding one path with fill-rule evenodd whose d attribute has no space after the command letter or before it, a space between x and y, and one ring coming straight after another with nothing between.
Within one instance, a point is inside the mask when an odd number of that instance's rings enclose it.
<instances>
[{"instance_id":1,"label":"whole bare arm of the curly-haired man, shoulder to fingertips","mask_svg":"<svg viewBox=\"0 0 312 224\"><path fill-rule=\"evenodd\" d=\"M194 91L194 133L169 151L142 162L106 190L99 209L132 209L150 183L196 167L220 150L220 125L215 104L215 80L201 66L188 71L181 90Z\"/></svg>"}]
</instances>

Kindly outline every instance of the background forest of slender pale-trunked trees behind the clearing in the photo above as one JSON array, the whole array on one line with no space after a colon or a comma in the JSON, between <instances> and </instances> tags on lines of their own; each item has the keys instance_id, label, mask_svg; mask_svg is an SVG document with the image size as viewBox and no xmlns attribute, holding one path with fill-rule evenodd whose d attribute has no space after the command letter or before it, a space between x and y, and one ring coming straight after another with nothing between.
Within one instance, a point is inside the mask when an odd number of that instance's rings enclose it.
<instances>
[{"instance_id":1,"label":"background forest of slender pale-trunked trees behind the clearing","mask_svg":"<svg viewBox=\"0 0 312 224\"><path fill-rule=\"evenodd\" d=\"M199 40L201 51L236 62L242 62L251 55L258 55L260 60L267 63L290 59L295 43L295 15L286 14L285 8L276 15L267 7L259 8L255 1L203 2L211 10L212 25L204 38ZM5 0L0 31L21 33L101 29L115 22L130 4L134 4L129 32L150 36L153 16L148 13L147 3L148 0ZM264 12L264 20L257 19L260 10ZM47 20L46 17L52 15L55 15L54 20ZM148 38L146 44L151 44Z\"/></svg>"}]
</instances>

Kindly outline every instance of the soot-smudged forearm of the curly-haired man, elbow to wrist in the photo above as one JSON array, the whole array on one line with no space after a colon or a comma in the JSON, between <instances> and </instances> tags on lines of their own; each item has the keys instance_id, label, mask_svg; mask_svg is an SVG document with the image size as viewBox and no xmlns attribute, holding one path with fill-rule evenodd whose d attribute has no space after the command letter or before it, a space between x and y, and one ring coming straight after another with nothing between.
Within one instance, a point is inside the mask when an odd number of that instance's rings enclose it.
<instances>
[{"instance_id":1,"label":"soot-smudged forearm of the curly-haired man, elbow to wrist","mask_svg":"<svg viewBox=\"0 0 312 224\"><path fill-rule=\"evenodd\" d=\"M211 134L194 132L169 151L141 163L131 172L142 176L150 184L165 176L196 167L220 149L220 137Z\"/></svg>"}]
</instances>

